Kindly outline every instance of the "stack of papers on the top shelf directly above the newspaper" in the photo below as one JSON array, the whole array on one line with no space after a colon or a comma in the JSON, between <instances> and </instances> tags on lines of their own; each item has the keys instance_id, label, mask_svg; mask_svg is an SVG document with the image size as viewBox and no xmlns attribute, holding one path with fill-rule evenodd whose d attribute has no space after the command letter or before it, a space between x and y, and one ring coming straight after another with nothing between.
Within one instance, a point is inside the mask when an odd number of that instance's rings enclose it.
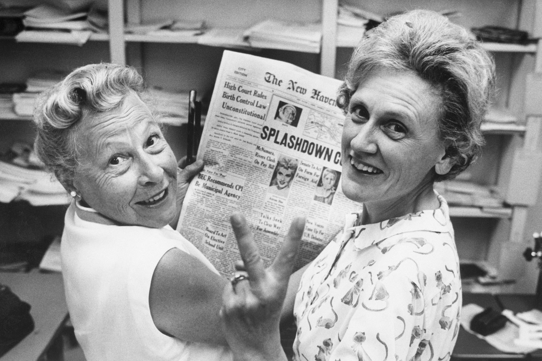
<instances>
[{"instance_id":1,"label":"stack of papers on the top shelf directly above the newspaper","mask_svg":"<svg viewBox=\"0 0 542 361\"><path fill-rule=\"evenodd\" d=\"M321 24L286 23L268 19L244 32L252 47L320 52Z\"/></svg>"}]
</instances>

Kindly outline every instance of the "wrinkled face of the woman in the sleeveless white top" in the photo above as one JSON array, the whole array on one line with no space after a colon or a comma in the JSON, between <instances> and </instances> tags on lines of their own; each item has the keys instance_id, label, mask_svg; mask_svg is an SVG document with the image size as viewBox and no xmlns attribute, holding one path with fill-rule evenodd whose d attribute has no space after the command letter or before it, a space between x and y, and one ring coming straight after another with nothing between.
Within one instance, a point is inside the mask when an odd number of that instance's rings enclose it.
<instances>
[{"instance_id":1,"label":"wrinkled face of the woman in the sleeveless white top","mask_svg":"<svg viewBox=\"0 0 542 361\"><path fill-rule=\"evenodd\" d=\"M83 154L74 186L89 206L121 224L169 224L177 207L177 163L137 95L85 119L76 132Z\"/></svg>"}]
</instances>

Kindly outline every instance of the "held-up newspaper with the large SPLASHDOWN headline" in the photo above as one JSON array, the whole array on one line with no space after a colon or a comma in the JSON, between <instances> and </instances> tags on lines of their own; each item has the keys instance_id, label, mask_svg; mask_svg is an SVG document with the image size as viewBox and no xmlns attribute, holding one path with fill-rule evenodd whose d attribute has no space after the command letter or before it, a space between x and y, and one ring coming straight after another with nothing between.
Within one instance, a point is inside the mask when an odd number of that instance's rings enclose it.
<instances>
[{"instance_id":1,"label":"held-up newspaper with the large SPLASHDOWN headline","mask_svg":"<svg viewBox=\"0 0 542 361\"><path fill-rule=\"evenodd\" d=\"M281 61L224 51L177 230L229 276L240 259L229 216L240 211L266 264L296 215L295 261L313 260L361 205L340 186L340 81Z\"/></svg>"}]
</instances>

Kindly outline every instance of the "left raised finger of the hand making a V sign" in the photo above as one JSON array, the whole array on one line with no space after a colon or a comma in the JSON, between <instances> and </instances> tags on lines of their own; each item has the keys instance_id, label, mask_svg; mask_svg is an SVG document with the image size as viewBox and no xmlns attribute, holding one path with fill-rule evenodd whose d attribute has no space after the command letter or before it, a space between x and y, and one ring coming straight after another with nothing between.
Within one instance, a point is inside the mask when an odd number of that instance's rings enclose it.
<instances>
[{"instance_id":1,"label":"left raised finger of the hand making a V sign","mask_svg":"<svg viewBox=\"0 0 542 361\"><path fill-rule=\"evenodd\" d=\"M241 258L244 262L244 267L248 273L250 283L259 283L264 279L265 265L260 258L260 252L258 247L254 244L254 237L250 228L247 225L246 219L244 219L241 213L233 213L230 216L231 228L235 233L237 239L237 245Z\"/></svg>"}]
</instances>

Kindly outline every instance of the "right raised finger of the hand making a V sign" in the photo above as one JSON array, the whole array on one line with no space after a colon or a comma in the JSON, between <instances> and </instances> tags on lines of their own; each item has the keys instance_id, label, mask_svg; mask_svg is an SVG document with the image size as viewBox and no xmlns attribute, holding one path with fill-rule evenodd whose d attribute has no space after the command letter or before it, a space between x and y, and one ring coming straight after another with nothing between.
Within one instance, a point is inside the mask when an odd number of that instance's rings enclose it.
<instances>
[{"instance_id":1,"label":"right raised finger of the hand making a V sign","mask_svg":"<svg viewBox=\"0 0 542 361\"><path fill-rule=\"evenodd\" d=\"M298 253L304 228L305 218L295 217L284 238L284 242L282 242L279 253L276 255L273 264L269 266L279 280L289 279L292 273L295 255Z\"/></svg>"}]
</instances>

